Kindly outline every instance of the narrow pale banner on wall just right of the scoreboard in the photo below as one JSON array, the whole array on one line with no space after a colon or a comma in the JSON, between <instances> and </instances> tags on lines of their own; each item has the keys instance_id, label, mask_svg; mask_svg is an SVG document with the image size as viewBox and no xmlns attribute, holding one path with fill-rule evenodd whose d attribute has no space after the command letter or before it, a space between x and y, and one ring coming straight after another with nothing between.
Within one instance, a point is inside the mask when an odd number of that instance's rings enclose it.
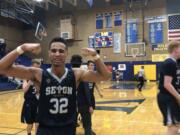
<instances>
[{"instance_id":1,"label":"narrow pale banner on wall just right of the scoreboard","mask_svg":"<svg viewBox=\"0 0 180 135\"><path fill-rule=\"evenodd\" d=\"M121 52L121 33L114 33L113 52L114 53L120 53Z\"/></svg>"}]
</instances>

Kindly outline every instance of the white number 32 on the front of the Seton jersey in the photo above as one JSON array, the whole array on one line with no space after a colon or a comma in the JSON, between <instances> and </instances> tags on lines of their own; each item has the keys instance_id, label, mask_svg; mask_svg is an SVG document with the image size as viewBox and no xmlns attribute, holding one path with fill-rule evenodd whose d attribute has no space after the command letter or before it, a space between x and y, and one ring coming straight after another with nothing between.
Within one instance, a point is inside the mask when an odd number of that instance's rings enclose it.
<instances>
[{"instance_id":1,"label":"white number 32 on the front of the Seton jersey","mask_svg":"<svg viewBox=\"0 0 180 135\"><path fill-rule=\"evenodd\" d=\"M50 103L53 103L53 108L50 109L51 114L64 114L68 112L68 99L67 98L51 98Z\"/></svg>"}]
</instances>

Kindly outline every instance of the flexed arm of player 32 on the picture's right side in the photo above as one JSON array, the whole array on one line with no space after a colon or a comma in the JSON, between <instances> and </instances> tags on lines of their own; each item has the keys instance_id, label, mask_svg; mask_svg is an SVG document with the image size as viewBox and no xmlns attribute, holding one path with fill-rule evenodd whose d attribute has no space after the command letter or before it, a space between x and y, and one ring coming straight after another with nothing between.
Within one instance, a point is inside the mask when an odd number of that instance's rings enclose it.
<instances>
[{"instance_id":1,"label":"flexed arm of player 32 on the picture's right side","mask_svg":"<svg viewBox=\"0 0 180 135\"><path fill-rule=\"evenodd\" d=\"M107 70L96 50L92 48L85 48L83 51L86 56L93 57L97 71L74 69L77 83L79 81L97 82L110 79L111 73Z\"/></svg>"}]
</instances>

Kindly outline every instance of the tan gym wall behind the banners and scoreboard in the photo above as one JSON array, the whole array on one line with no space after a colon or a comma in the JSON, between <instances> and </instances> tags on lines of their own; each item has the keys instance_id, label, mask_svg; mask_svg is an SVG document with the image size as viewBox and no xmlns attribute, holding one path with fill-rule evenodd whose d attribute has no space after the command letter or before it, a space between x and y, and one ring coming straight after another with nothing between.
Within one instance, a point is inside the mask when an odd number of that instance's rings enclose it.
<instances>
[{"instance_id":1,"label":"tan gym wall behind the banners and scoreboard","mask_svg":"<svg viewBox=\"0 0 180 135\"><path fill-rule=\"evenodd\" d=\"M117 10L122 10L123 11L123 24L122 26L119 27L112 27L112 28L108 28L108 29L102 29L102 30L97 30L96 26L95 26L95 22L96 22L96 14L97 13L105 13L105 12L113 12L113 11L117 11ZM72 54L81 54L80 50L83 47L87 47L88 46L88 36L93 35L95 32L101 32L101 31L113 31L113 32L120 32L122 33L122 47L121 47L121 53L120 54L114 54L113 53L113 48L100 48L100 55L103 58L104 56L107 56L106 59L104 59L104 61L106 62L118 62L118 61L132 61L132 57L125 57L125 24L124 24L124 20L126 18L126 13L125 13L125 7L123 6L112 6L110 8L104 8L104 9L89 9L89 10L81 10L81 11L76 11L74 14L74 18L75 21L73 23L75 23L75 39L77 40L82 40L79 42L73 42L71 43L71 46L69 47L69 57L67 59L67 62L69 62L70 57L72 56ZM148 6L145 7L144 10L144 15L145 16L158 16L158 15L165 15L166 14L166 2L164 0L164 2L162 2L161 4L158 3L158 1L156 2L152 2L150 1L148 3ZM46 28L47 28L47 33L48 33L48 37L45 38L42 41L42 45L43 45L43 51L42 51L42 55L43 58L45 60L45 63L49 63L48 60L48 43L49 41L56 36L60 36L60 18L64 16L63 14L61 14L60 12L49 12L46 15ZM135 12L128 12L127 13L127 18L141 18L141 12L139 10L135 10ZM142 19L142 18L141 18ZM164 23L163 26L166 28L167 27L167 23ZM164 51L156 51L153 52L151 50L150 45L148 44L148 26L147 24L145 24L144 26L144 39L146 41L146 56L144 57L138 57L136 58L135 61L151 61L151 54L159 54L159 53L164 53ZM29 32L26 31L25 32L25 39L26 41L33 41L34 38L31 38L33 35L33 32ZM139 27L139 42L142 41L142 25L140 24ZM165 29L164 31L165 34L167 34L167 30ZM164 36L166 37L166 36ZM30 39L30 40L29 40ZM167 42L167 39L164 39L164 42Z\"/></svg>"}]
</instances>

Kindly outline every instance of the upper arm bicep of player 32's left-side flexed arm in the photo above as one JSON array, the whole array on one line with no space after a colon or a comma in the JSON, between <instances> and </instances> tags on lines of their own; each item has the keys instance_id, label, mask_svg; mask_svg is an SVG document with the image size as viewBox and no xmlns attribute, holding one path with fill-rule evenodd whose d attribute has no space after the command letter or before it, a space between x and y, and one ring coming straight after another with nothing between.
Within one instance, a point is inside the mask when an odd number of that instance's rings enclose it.
<instances>
[{"instance_id":1,"label":"upper arm bicep of player 32's left-side flexed arm","mask_svg":"<svg viewBox=\"0 0 180 135\"><path fill-rule=\"evenodd\" d=\"M13 76L20 79L32 80L34 79L35 72L31 67L25 66L12 66L4 71L7 76Z\"/></svg>"}]
</instances>

